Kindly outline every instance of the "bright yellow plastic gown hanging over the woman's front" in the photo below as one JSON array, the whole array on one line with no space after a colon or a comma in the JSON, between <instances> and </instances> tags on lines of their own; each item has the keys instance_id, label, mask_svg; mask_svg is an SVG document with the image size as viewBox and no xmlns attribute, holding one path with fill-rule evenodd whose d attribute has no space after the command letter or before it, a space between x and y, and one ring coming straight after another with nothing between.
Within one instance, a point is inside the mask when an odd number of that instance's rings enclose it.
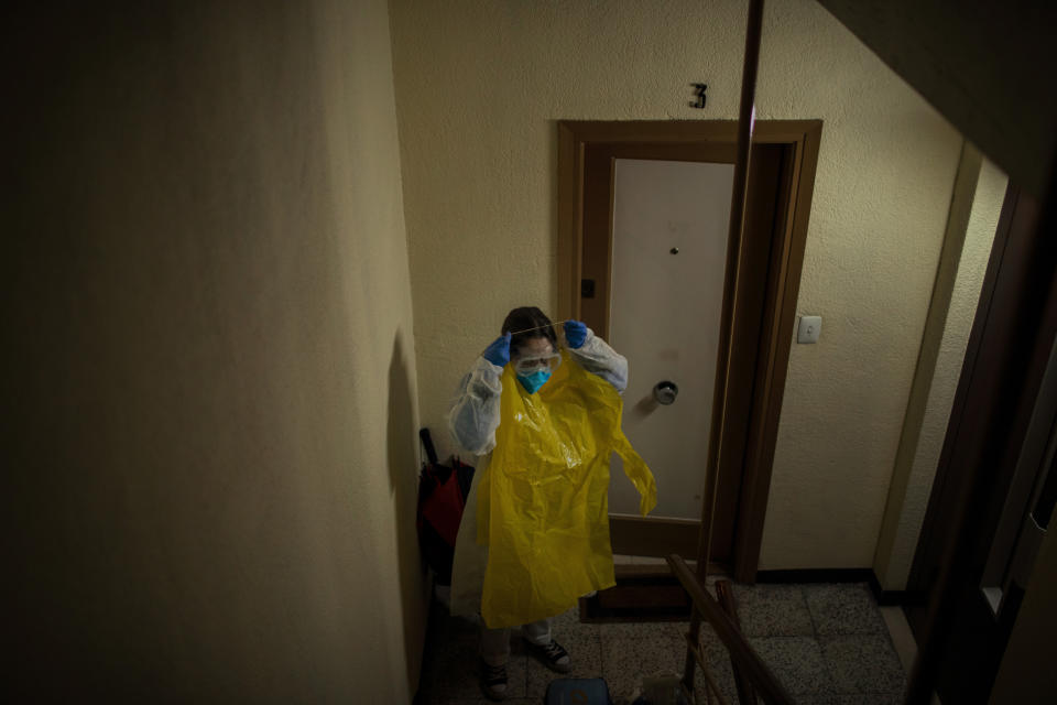
<instances>
[{"instance_id":1,"label":"bright yellow plastic gown hanging over the woman's front","mask_svg":"<svg viewBox=\"0 0 1057 705\"><path fill-rule=\"evenodd\" d=\"M495 449L478 488L478 542L488 545L481 616L490 628L558 615L612 587L609 459L617 453L657 503L653 474L620 427L623 400L568 354L535 394L503 370Z\"/></svg>"}]
</instances>

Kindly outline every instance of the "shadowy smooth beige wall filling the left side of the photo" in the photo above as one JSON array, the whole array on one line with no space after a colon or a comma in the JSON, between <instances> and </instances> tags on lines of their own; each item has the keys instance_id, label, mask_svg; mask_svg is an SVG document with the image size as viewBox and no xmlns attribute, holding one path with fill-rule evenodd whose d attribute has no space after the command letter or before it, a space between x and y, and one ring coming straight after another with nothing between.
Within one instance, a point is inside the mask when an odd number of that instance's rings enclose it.
<instances>
[{"instance_id":1,"label":"shadowy smooth beige wall filling the left side of the photo","mask_svg":"<svg viewBox=\"0 0 1057 705\"><path fill-rule=\"evenodd\" d=\"M8 20L29 79L4 84L0 687L408 702L425 600L384 0Z\"/></svg>"}]
</instances>

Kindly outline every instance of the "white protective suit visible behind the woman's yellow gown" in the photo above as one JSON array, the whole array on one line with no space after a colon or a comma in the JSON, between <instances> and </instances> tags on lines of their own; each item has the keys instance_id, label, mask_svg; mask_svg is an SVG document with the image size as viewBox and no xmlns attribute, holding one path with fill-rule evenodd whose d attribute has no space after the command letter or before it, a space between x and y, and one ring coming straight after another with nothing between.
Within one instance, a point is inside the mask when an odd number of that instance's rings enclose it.
<instances>
[{"instance_id":1,"label":"white protective suit visible behind the woman's yellow gown","mask_svg":"<svg viewBox=\"0 0 1057 705\"><path fill-rule=\"evenodd\" d=\"M598 375L618 392L628 387L628 360L604 340L587 329L587 338L569 355L588 372ZM466 509L455 543L455 563L451 568L451 614L473 617L481 609L481 593L484 585L484 567L488 564L488 547L477 543L477 487L488 468L495 447L495 430L499 427L499 400L502 389L503 368L492 365L483 357L477 358L470 373L462 378L459 395L448 414L448 429L458 446L470 455L479 456L473 463L473 484L467 497Z\"/></svg>"}]
</instances>

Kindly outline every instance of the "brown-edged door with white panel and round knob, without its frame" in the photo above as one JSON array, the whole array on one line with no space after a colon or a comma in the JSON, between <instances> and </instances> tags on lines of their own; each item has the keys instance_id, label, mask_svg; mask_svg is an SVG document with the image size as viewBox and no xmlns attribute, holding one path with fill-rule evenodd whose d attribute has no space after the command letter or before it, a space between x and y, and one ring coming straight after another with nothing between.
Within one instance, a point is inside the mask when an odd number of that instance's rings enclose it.
<instances>
[{"instance_id":1,"label":"brown-edged door with white panel and round knob, without its frame","mask_svg":"<svg viewBox=\"0 0 1057 705\"><path fill-rule=\"evenodd\" d=\"M657 508L635 516L634 489L613 464L610 506L613 550L633 555L697 556L705 500L706 459L723 370L717 369L734 152L695 148L600 144L588 151L591 231L586 259L606 285L585 306L585 322L628 357L624 430L657 480ZM743 241L742 281L732 332L742 355L732 360L723 457L720 459L710 560L732 565L744 453L751 425L753 377L760 354L764 292L775 216L782 200L786 150L756 145ZM604 192L597 188L608 184ZM604 218L600 217L604 208ZM588 225L588 224L586 224ZM672 248L678 252L672 254ZM682 259L680 259L682 258ZM603 271L604 270L604 271ZM608 315L599 317L598 313ZM655 402L654 388L673 382L675 402Z\"/></svg>"}]
</instances>

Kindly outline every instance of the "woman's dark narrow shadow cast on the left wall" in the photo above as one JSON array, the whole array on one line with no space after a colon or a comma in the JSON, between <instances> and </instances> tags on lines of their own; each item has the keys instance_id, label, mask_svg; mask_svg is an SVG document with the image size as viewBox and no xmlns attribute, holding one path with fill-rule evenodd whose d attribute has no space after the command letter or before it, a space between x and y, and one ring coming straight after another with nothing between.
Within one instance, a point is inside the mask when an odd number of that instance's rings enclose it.
<instances>
[{"instance_id":1,"label":"woman's dark narrow shadow cast on the left wall","mask_svg":"<svg viewBox=\"0 0 1057 705\"><path fill-rule=\"evenodd\" d=\"M407 681L414 690L421 671L425 638L426 592L425 564L418 550L415 510L418 498L418 435L415 429L415 403L411 389L403 333L397 328L393 339L393 357L389 364L388 441L389 488L396 522L396 560L400 568L401 612L404 621L404 655Z\"/></svg>"}]
</instances>

